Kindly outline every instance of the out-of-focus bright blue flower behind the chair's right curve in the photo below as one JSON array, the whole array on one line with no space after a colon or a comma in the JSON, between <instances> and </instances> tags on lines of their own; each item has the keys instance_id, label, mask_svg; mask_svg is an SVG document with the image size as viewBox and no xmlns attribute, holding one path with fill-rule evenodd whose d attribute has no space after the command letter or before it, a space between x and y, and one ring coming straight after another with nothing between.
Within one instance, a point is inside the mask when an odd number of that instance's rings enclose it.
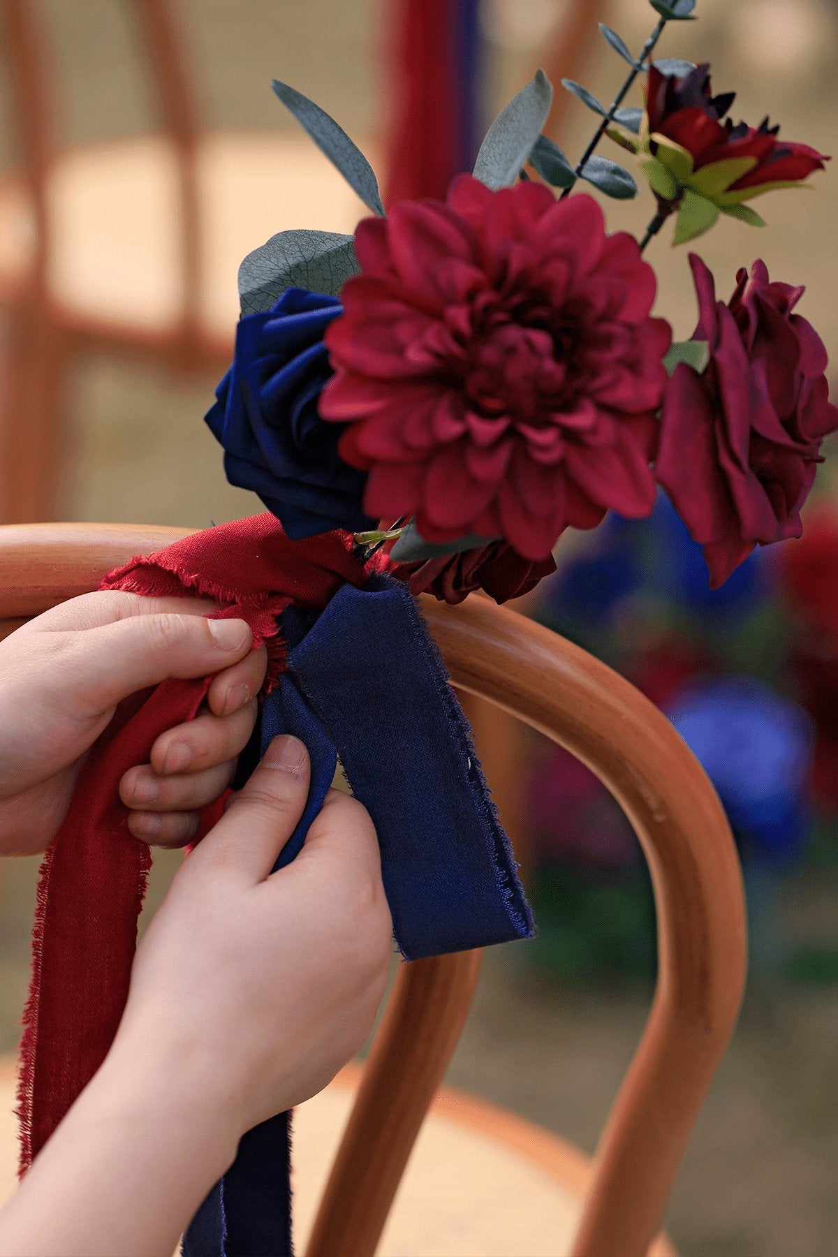
<instances>
[{"instance_id":1,"label":"out-of-focus bright blue flower behind the chair's right curve","mask_svg":"<svg viewBox=\"0 0 838 1257\"><path fill-rule=\"evenodd\" d=\"M803 851L814 732L797 703L748 676L691 686L670 705L675 728L702 764L740 837L769 864ZM748 852L745 852L748 854Z\"/></svg>"}]
</instances>

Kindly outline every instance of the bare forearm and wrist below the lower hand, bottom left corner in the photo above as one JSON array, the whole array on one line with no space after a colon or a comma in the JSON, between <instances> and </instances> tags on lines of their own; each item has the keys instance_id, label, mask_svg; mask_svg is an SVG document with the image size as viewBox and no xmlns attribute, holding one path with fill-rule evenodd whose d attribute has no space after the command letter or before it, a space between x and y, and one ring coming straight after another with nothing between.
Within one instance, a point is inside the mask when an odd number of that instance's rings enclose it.
<instances>
[{"instance_id":1,"label":"bare forearm and wrist below the lower hand, bottom left corner","mask_svg":"<svg viewBox=\"0 0 838 1257\"><path fill-rule=\"evenodd\" d=\"M235 1123L122 1040L0 1218L0 1257L160 1257L235 1158Z\"/></svg>"}]
</instances>

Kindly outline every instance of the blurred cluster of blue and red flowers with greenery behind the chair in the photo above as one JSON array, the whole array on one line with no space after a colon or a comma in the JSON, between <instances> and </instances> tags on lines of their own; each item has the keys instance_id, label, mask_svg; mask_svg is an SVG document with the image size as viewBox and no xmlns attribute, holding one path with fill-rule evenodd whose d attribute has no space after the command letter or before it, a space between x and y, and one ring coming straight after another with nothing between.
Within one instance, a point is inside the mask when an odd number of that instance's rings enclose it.
<instances>
[{"instance_id":1,"label":"blurred cluster of blue and red flowers with greenery behind the chair","mask_svg":"<svg viewBox=\"0 0 838 1257\"><path fill-rule=\"evenodd\" d=\"M734 830L763 978L838 980L827 940L789 933L790 895L838 870L838 508L751 554L710 590L700 548L661 495L611 517L540 588L535 616L628 676L672 720ZM536 967L560 980L647 977L651 887L617 803L565 752L543 747L526 783Z\"/></svg>"}]
</instances>

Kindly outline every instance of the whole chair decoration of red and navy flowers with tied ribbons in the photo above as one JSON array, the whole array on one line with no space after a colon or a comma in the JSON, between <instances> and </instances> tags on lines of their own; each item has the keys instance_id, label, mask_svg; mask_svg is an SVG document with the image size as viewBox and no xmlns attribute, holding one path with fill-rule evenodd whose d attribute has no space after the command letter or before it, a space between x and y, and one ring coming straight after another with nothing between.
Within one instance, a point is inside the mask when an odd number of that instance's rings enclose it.
<instances>
[{"instance_id":1,"label":"whole chair decoration of red and navy flowers with tied ribbons","mask_svg":"<svg viewBox=\"0 0 838 1257\"><path fill-rule=\"evenodd\" d=\"M369 163L294 88L279 99L372 216L353 236L285 231L245 258L235 357L207 424L229 479L270 514L222 525L106 578L144 593L199 591L270 650L259 744L294 730L313 757L299 850L339 755L378 828L406 958L528 936L529 909L467 727L411 595L504 602L555 569L567 528L648 515L658 485L712 586L758 546L798 537L823 439L838 429L827 357L795 312L802 289L743 269L729 302L690 256L699 323L685 342L652 316L642 253L721 216L760 225L750 201L827 160L727 117L707 65L651 60L695 0L650 0L657 25L611 107L564 87L599 122L577 165L543 133L544 74L489 129L445 200L388 215ZM638 77L643 107L623 106ZM633 176L594 152L636 156L655 197L638 243L609 234L579 182L624 200ZM558 190L558 196L557 196ZM570 192L574 192L570 196ZM206 683L172 681L124 705L85 764L46 856L24 1041L25 1156L60 1120L119 1019L147 855L116 782L153 737L195 714ZM212 823L207 810L205 827ZM201 1207L188 1257L290 1253L288 1124L241 1141Z\"/></svg>"}]
</instances>

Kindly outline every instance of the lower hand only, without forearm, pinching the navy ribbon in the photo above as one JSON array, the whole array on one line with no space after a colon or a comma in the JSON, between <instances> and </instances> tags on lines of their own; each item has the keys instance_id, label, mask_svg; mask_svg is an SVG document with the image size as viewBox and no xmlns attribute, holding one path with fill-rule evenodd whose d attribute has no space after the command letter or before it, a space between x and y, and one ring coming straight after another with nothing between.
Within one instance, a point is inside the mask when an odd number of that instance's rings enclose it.
<instances>
[{"instance_id":1,"label":"lower hand only, without forearm, pinching the navy ribbon","mask_svg":"<svg viewBox=\"0 0 838 1257\"><path fill-rule=\"evenodd\" d=\"M303 743L275 738L146 930L109 1057L193 1095L234 1141L322 1090L384 991L392 924L363 806L330 791L297 860L270 871L308 788Z\"/></svg>"}]
</instances>

